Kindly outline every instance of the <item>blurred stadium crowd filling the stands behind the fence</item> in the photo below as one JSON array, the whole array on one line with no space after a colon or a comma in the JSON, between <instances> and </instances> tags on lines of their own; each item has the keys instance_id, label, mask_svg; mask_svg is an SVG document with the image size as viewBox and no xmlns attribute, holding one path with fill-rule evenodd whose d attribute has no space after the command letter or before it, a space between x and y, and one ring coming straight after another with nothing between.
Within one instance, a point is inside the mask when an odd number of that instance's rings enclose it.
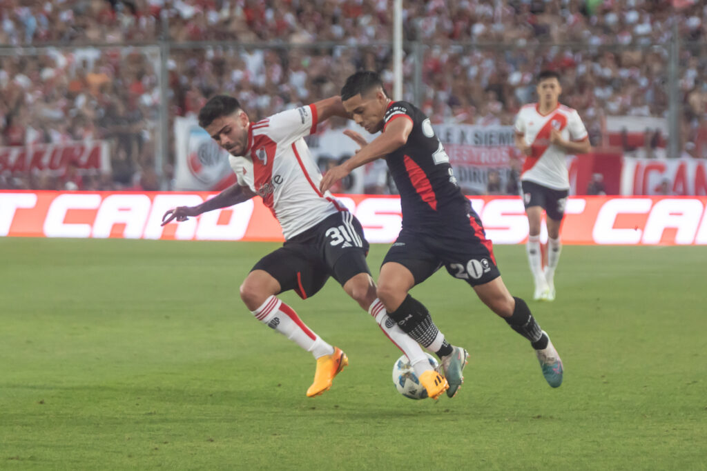
<instances>
[{"instance_id":1,"label":"blurred stadium crowd filling the stands behind the fence","mask_svg":"<svg viewBox=\"0 0 707 471\"><path fill-rule=\"evenodd\" d=\"M669 2L655 0L405 0L404 35L422 44L421 64L412 49L404 61L406 98L419 99L434 123L512 124L520 105L534 99L535 74L553 68L562 73L561 101L580 111L592 144L602 145L605 114L666 116L667 44L676 23L685 44L681 148L707 157L707 54L699 46L707 40L707 6L680 3L686 6L675 15ZM0 44L52 46L0 51L0 146L106 139L112 166L112 175L78 180L5 172L2 188L159 186L158 49L128 43L170 40L170 117L193 114L223 91L257 119L333 95L359 68L392 83L390 47L378 43L392 31L385 0L0 4ZM233 46L186 44L200 40ZM271 47L243 45L259 42Z\"/></svg>"}]
</instances>

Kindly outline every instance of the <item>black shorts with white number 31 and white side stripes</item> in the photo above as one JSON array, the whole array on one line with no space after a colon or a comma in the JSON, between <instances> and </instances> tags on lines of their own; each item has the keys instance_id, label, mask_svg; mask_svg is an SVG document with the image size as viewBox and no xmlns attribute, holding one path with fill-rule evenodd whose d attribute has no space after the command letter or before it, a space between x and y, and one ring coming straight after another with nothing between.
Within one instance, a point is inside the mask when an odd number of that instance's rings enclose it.
<instances>
[{"instance_id":1,"label":"black shorts with white number 31 and white side stripes","mask_svg":"<svg viewBox=\"0 0 707 471\"><path fill-rule=\"evenodd\" d=\"M252 270L269 273L280 283L280 292L295 290L307 299L321 290L330 276L344 286L359 273L370 275L367 254L361 222L341 211L287 240Z\"/></svg>"}]
</instances>

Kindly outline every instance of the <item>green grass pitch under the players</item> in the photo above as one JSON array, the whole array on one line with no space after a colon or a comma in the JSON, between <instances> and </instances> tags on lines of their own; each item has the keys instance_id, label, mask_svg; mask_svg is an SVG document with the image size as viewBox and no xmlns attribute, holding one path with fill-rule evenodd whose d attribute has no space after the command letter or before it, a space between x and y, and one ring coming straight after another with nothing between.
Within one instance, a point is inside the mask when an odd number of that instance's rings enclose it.
<instances>
[{"instance_id":1,"label":"green grass pitch under the players","mask_svg":"<svg viewBox=\"0 0 707 471\"><path fill-rule=\"evenodd\" d=\"M0 239L0 469L707 468L707 247L565 246L556 301L528 301L565 363L556 390L437 273L413 294L471 359L435 403L395 392L399 350L334 280L284 295L350 359L305 397L310 354L238 297L276 246ZM495 251L530 299L525 247Z\"/></svg>"}]
</instances>

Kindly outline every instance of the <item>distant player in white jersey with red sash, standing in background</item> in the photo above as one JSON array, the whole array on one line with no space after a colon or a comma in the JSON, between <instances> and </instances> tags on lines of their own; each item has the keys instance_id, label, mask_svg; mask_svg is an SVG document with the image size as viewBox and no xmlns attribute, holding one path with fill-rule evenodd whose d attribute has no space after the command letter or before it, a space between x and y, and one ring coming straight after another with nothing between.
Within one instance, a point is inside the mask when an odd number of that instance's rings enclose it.
<instances>
[{"instance_id":1,"label":"distant player in white jersey with red sash, standing in background","mask_svg":"<svg viewBox=\"0 0 707 471\"><path fill-rule=\"evenodd\" d=\"M515 118L515 145L525 155L520 174L525 213L530 225L528 263L535 282L533 299L555 299L555 269L560 259L560 225L570 189L566 155L588 153L587 129L575 109L558 101L559 74L542 71L537 103L525 105ZM542 268L540 220L547 213L547 266Z\"/></svg>"}]
</instances>

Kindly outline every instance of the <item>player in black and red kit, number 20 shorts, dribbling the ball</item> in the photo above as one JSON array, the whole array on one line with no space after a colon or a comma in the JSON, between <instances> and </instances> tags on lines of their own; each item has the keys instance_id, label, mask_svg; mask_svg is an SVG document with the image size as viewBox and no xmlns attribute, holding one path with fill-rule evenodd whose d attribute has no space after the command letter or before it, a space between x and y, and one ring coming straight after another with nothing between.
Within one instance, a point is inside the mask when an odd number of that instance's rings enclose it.
<instances>
[{"instance_id":1,"label":"player in black and red kit, number 20 shorts, dribbling the ball","mask_svg":"<svg viewBox=\"0 0 707 471\"><path fill-rule=\"evenodd\" d=\"M362 145L361 150L329 169L320 189L325 191L356 167L385 157L402 205L402 229L378 278L378 297L388 316L423 347L431 345L437 328L427 308L411 297L409 290L445 266L450 275L469 283L479 299L513 330L530 340L543 376L550 386L559 387L563 374L559 354L525 301L511 296L503 284L491 241L460 191L428 117L409 102L391 100L375 72L361 71L346 79L341 100L357 124L369 133L382 132L370 143L347 132ZM436 353L443 367L448 359L464 356L463 367L467 355L466 350L447 342ZM460 384L462 371L454 370L445 367L450 389L452 382L457 387Z\"/></svg>"}]
</instances>

